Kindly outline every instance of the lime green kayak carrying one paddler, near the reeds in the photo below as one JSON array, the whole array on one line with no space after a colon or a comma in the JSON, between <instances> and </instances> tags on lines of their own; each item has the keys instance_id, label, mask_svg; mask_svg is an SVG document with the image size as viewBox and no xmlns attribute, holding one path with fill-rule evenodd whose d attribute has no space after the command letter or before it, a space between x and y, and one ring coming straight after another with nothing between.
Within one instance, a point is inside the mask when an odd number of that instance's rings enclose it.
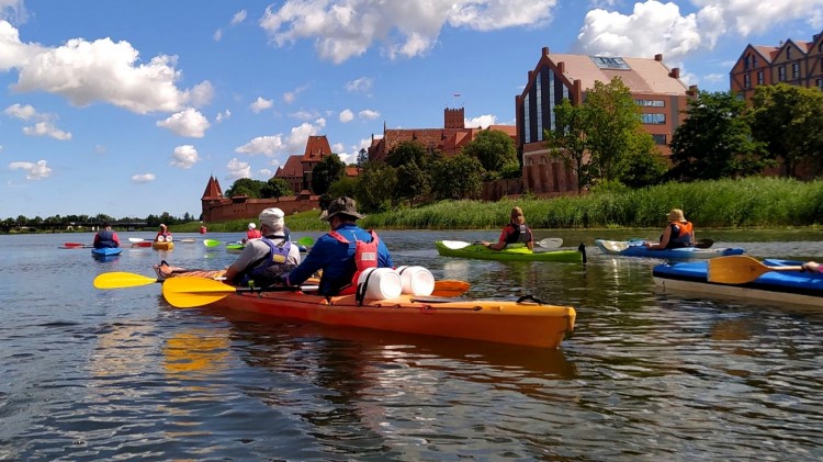
<instances>
[{"instance_id":1,"label":"lime green kayak carrying one paddler, near the reeds","mask_svg":"<svg viewBox=\"0 0 823 462\"><path fill-rule=\"evenodd\" d=\"M580 245L577 250L550 251L529 250L522 244L509 245L503 250L491 250L483 244L464 243L462 240L438 240L435 246L437 246L438 253L444 257L503 261L586 261L586 246L584 245Z\"/></svg>"}]
</instances>

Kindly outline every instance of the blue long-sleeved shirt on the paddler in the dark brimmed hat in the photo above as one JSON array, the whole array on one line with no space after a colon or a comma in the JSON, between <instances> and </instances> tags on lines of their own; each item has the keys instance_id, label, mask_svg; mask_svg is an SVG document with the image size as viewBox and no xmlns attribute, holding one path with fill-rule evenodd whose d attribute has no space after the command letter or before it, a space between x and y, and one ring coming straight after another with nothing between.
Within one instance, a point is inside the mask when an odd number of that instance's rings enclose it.
<instances>
[{"instance_id":1,"label":"blue long-sleeved shirt on the paddler in the dark brimmed hat","mask_svg":"<svg viewBox=\"0 0 823 462\"><path fill-rule=\"evenodd\" d=\"M293 269L286 279L291 285L300 285L312 277L317 270L323 270L318 292L322 295L334 295L340 288L351 282L357 267L354 264L356 240L371 241L369 232L360 228L353 223L343 223L337 229L350 244L343 244L325 234L312 247L306 258L300 266ZM377 268L392 268L392 256L383 239L377 244Z\"/></svg>"}]
</instances>

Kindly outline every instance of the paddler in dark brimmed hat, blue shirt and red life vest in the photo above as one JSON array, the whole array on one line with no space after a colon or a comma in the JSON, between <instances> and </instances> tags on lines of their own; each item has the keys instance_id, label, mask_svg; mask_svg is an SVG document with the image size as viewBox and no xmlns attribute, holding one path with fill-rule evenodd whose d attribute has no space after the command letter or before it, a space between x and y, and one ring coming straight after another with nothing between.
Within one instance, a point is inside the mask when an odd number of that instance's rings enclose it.
<instances>
[{"instance_id":1,"label":"paddler in dark brimmed hat, blue shirt and red life vest","mask_svg":"<svg viewBox=\"0 0 823 462\"><path fill-rule=\"evenodd\" d=\"M331 230L320 236L302 263L282 277L286 285L300 285L323 270L317 292L322 295L354 293L357 278L365 268L392 268L392 256L373 230L354 222L362 218L353 199L334 200L320 218Z\"/></svg>"}]
</instances>

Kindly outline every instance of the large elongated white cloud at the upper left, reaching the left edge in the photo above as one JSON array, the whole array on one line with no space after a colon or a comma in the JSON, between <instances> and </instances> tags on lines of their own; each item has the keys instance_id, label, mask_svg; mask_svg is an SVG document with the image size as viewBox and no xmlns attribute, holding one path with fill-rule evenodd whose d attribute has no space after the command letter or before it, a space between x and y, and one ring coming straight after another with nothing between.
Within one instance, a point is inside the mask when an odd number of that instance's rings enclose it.
<instances>
[{"instance_id":1,"label":"large elongated white cloud at the upper left, reaching the left edge","mask_svg":"<svg viewBox=\"0 0 823 462\"><path fill-rule=\"evenodd\" d=\"M173 112L202 93L177 87L176 56L144 61L125 41L71 38L49 48L21 42L18 30L0 21L0 71L18 70L14 91L59 94L76 106L105 102L138 114Z\"/></svg>"}]
</instances>

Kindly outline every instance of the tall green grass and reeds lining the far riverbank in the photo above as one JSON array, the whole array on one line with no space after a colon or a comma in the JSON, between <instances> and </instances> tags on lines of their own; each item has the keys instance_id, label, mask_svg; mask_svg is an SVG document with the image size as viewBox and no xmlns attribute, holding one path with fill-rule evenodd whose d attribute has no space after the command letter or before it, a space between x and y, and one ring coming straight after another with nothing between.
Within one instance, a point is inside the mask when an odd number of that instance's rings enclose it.
<instances>
[{"instance_id":1,"label":"tall green grass and reeds lining the far riverbank","mask_svg":"<svg viewBox=\"0 0 823 462\"><path fill-rule=\"evenodd\" d=\"M823 180L753 177L557 199L443 201L368 215L359 224L380 229L489 229L508 223L516 205L533 228L659 227L672 209L681 209L698 227L812 226L823 223ZM208 224L208 230L241 232L248 222ZM291 215L286 225L295 230L328 229L316 211Z\"/></svg>"}]
</instances>

